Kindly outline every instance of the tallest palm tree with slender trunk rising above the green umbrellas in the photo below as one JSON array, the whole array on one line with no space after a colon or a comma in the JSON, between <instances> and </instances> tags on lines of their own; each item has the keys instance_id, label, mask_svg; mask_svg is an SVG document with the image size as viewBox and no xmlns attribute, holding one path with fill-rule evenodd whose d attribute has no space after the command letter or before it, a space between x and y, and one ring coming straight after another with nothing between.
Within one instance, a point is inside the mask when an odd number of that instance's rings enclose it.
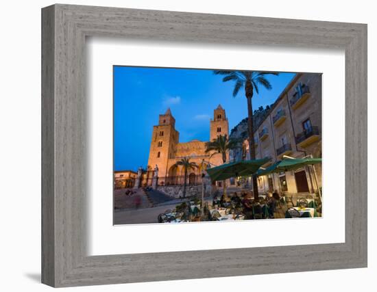
<instances>
[{"instance_id":1,"label":"tallest palm tree with slender trunk rising above the green umbrellas","mask_svg":"<svg viewBox=\"0 0 377 292\"><path fill-rule=\"evenodd\" d=\"M258 86L262 85L267 90L271 90L272 86L266 79L265 75L278 75L278 72L258 72L258 71L223 71L215 70L215 75L225 75L223 82L234 81L233 97L235 97L241 88L245 88L245 96L247 99L247 117L248 117L248 132L249 132L249 152L250 159L255 159L255 146L254 146L254 122L253 122L253 106L252 98L254 90L259 94ZM258 185L256 183L256 174L253 176L253 191L254 198L258 200Z\"/></svg>"}]
</instances>

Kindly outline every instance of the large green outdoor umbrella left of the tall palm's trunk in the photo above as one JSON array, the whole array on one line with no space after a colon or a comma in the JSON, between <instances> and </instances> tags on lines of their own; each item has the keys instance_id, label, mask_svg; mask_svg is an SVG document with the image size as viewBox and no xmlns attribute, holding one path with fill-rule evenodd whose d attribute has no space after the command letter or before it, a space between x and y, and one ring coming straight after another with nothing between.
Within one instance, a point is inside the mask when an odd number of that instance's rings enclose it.
<instances>
[{"instance_id":1,"label":"large green outdoor umbrella left of the tall palm's trunk","mask_svg":"<svg viewBox=\"0 0 377 292\"><path fill-rule=\"evenodd\" d=\"M269 161L268 158L231 162L215 168L208 168L207 172L212 181L224 181L235 176L255 174L260 165L265 164L267 161Z\"/></svg>"}]
</instances>

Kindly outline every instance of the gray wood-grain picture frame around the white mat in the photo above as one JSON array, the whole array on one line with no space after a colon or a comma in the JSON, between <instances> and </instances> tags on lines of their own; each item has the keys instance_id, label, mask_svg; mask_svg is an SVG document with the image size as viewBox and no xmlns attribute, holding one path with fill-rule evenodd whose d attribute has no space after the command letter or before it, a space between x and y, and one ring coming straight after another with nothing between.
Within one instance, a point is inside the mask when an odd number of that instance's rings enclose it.
<instances>
[{"instance_id":1,"label":"gray wood-grain picture frame around the white mat","mask_svg":"<svg viewBox=\"0 0 377 292\"><path fill-rule=\"evenodd\" d=\"M345 243L87 256L86 36L344 49ZM356 267L367 267L367 25L42 8L43 283L69 287Z\"/></svg>"}]
</instances>

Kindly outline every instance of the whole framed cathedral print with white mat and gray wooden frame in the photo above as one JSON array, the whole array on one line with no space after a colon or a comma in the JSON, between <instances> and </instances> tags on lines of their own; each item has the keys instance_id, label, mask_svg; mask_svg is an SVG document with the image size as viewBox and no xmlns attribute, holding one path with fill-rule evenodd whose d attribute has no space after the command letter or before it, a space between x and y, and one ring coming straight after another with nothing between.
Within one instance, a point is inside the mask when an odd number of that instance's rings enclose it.
<instances>
[{"instance_id":1,"label":"whole framed cathedral print with white mat and gray wooden frame","mask_svg":"<svg viewBox=\"0 0 377 292\"><path fill-rule=\"evenodd\" d=\"M42 282L366 267L366 77L363 24L43 8Z\"/></svg>"}]
</instances>

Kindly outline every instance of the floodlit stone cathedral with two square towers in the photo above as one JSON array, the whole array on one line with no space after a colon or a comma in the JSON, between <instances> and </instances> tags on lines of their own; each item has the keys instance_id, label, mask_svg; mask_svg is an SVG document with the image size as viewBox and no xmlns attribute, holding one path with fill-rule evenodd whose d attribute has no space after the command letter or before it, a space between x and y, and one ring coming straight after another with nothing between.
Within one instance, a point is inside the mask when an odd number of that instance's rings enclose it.
<instances>
[{"instance_id":1,"label":"floodlit stone cathedral with two square towers","mask_svg":"<svg viewBox=\"0 0 377 292\"><path fill-rule=\"evenodd\" d=\"M215 140L219 135L229 136L226 111L221 105L213 111L213 118L208 122L210 141ZM167 109L165 114L160 114L158 124L153 127L147 176L151 177L154 169L158 168L158 185L182 184L184 170L182 170L182 166L175 163L184 157L198 165L198 168L188 172L187 183L189 184L198 183L202 176L202 170L208 168L208 165L215 167L223 164L221 154L206 153L206 142L192 140L180 143L180 133L175 129L175 118L171 110Z\"/></svg>"}]
</instances>

